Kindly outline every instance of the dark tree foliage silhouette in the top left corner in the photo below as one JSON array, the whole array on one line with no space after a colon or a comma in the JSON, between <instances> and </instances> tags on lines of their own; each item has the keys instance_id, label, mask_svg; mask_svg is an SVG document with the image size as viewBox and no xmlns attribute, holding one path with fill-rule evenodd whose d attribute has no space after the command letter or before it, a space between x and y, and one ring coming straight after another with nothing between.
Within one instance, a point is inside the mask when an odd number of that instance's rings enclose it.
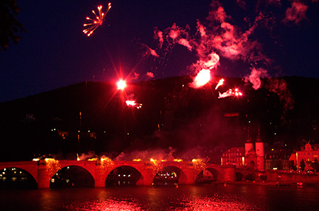
<instances>
[{"instance_id":1,"label":"dark tree foliage silhouette in the top left corner","mask_svg":"<svg viewBox=\"0 0 319 211\"><path fill-rule=\"evenodd\" d=\"M19 31L25 31L23 24L18 22L14 16L18 15L21 8L16 0L0 1L0 50L6 50L10 45L10 40L15 44L21 39L16 35Z\"/></svg>"}]
</instances>

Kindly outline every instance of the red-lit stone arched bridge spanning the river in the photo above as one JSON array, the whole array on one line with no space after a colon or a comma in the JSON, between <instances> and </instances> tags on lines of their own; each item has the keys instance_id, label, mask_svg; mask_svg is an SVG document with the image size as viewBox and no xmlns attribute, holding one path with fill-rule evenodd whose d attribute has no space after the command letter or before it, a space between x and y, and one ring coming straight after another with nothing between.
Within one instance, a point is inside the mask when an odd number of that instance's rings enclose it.
<instances>
[{"instance_id":1,"label":"red-lit stone arched bridge spanning the river","mask_svg":"<svg viewBox=\"0 0 319 211\"><path fill-rule=\"evenodd\" d=\"M96 188L105 187L106 177L113 169L120 166L130 166L140 173L137 186L151 186L155 174L164 167L177 169L179 184L194 184L201 171L207 169L216 181L235 181L235 166L220 166L217 164L194 164L192 161L75 161L75 160L39 160L39 161L9 161L0 162L0 171L6 168L23 169L30 173L38 183L38 188L50 188L52 176L67 166L79 166L88 171L94 178Z\"/></svg>"}]
</instances>

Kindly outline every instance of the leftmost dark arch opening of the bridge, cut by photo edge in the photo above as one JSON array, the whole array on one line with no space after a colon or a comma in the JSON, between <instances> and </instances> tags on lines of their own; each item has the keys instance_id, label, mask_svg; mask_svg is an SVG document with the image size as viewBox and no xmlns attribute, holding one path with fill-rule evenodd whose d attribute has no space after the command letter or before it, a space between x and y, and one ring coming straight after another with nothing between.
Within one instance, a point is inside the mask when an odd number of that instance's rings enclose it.
<instances>
[{"instance_id":1,"label":"leftmost dark arch opening of the bridge, cut by photo edge","mask_svg":"<svg viewBox=\"0 0 319 211\"><path fill-rule=\"evenodd\" d=\"M37 189L35 178L25 169L9 167L0 169L0 189Z\"/></svg>"}]
</instances>

